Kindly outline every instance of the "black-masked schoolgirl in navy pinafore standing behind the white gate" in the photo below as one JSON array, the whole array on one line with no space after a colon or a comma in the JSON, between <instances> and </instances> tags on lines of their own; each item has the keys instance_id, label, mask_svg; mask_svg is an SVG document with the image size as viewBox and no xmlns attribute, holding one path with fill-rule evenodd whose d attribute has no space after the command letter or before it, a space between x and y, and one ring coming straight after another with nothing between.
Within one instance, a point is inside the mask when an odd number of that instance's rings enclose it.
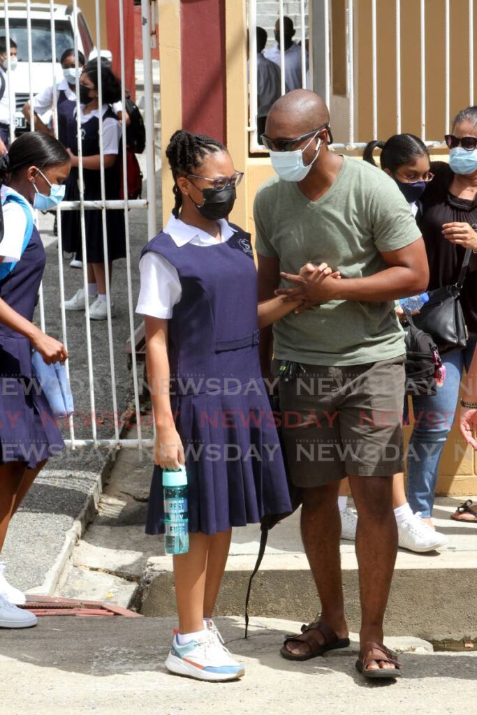
<instances>
[{"instance_id":1,"label":"black-masked schoolgirl in navy pinafore standing behind the white gate","mask_svg":"<svg viewBox=\"0 0 477 715\"><path fill-rule=\"evenodd\" d=\"M98 93L98 62L92 60L84 67L80 79L79 101L81 102L82 152L84 200L101 199L101 164L104 164L104 184L106 199L119 199L119 164L118 155L121 148L121 124L111 104L121 97L119 79L114 76L111 65L100 61L102 79L102 101L99 109ZM99 114L103 119L103 149L104 158L99 154ZM67 182L65 198L69 201L79 200L78 186L78 142L77 116L74 109L67 125L67 148L72 159L72 172ZM67 300L67 310L84 310L86 300L97 299L92 303L89 317L92 320L105 320L106 308L106 267L104 265L102 211L89 209L84 212L86 229L86 256L88 264L88 296L80 288L71 300ZM126 237L124 230L124 212L117 209L107 209L107 247L109 260L109 277L112 277L112 262L126 257ZM76 253L77 259L82 257L82 237L79 211L65 211L62 214L62 236L64 250ZM114 315L114 303L111 303Z\"/></svg>"}]
</instances>

